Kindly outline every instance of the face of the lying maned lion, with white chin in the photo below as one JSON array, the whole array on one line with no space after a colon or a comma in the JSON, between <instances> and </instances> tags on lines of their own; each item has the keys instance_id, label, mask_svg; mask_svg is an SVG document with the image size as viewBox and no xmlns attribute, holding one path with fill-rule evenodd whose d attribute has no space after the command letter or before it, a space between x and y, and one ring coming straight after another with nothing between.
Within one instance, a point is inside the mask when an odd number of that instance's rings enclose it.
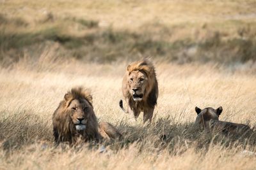
<instances>
[{"instance_id":1,"label":"face of the lying maned lion, with white chin","mask_svg":"<svg viewBox=\"0 0 256 170\"><path fill-rule=\"evenodd\" d=\"M92 106L85 99L74 99L70 102L68 113L77 131L84 131Z\"/></svg>"}]
</instances>

